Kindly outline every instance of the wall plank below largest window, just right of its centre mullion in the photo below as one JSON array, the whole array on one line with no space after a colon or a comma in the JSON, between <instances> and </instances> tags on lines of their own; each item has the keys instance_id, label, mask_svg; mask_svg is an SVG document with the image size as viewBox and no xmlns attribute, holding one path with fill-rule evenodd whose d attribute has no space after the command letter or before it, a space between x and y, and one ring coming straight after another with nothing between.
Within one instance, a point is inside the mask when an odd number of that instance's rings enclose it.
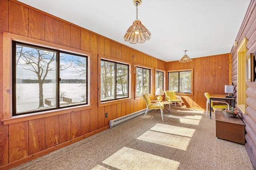
<instances>
[{"instance_id":1,"label":"wall plank below largest window, just right of its centre mullion","mask_svg":"<svg viewBox=\"0 0 256 170\"><path fill-rule=\"evenodd\" d=\"M70 113L59 115L59 143L64 143L71 139Z\"/></svg>"}]
</instances>

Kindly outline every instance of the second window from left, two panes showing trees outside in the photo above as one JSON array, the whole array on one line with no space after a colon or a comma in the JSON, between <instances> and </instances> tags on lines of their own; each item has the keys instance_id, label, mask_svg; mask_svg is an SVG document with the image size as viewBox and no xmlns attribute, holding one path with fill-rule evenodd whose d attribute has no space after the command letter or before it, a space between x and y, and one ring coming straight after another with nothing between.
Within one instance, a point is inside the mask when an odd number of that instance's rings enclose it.
<instances>
[{"instance_id":1,"label":"second window from left, two panes showing trees outside","mask_svg":"<svg viewBox=\"0 0 256 170\"><path fill-rule=\"evenodd\" d=\"M128 98L128 65L100 61L100 100Z\"/></svg>"}]
</instances>

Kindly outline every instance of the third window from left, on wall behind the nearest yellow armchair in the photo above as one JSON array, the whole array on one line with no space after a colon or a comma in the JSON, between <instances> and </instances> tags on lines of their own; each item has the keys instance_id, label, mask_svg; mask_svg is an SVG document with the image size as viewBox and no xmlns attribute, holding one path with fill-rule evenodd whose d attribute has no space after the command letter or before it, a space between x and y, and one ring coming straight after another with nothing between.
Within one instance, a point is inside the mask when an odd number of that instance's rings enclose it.
<instances>
[{"instance_id":1,"label":"third window from left, on wall behind the nearest yellow armchair","mask_svg":"<svg viewBox=\"0 0 256 170\"><path fill-rule=\"evenodd\" d=\"M150 93L150 70L146 68L136 68L136 96Z\"/></svg>"}]
</instances>

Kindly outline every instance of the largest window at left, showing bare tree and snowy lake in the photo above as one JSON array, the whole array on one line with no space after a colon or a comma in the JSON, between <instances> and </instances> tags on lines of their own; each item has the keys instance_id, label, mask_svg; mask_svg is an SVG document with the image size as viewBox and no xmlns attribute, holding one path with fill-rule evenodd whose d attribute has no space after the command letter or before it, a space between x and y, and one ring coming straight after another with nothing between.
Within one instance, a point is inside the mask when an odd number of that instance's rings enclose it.
<instances>
[{"instance_id":1,"label":"largest window at left, showing bare tree and snowy lake","mask_svg":"<svg viewBox=\"0 0 256 170\"><path fill-rule=\"evenodd\" d=\"M87 56L12 42L13 115L87 104Z\"/></svg>"}]
</instances>

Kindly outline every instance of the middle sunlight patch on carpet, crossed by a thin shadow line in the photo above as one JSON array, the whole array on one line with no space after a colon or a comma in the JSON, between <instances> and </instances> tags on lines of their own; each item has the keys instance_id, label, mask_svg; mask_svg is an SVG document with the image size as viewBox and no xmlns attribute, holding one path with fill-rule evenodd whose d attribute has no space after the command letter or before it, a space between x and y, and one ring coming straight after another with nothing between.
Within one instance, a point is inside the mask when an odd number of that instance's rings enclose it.
<instances>
[{"instance_id":1,"label":"middle sunlight patch on carpet, crossed by a thin shadow line","mask_svg":"<svg viewBox=\"0 0 256 170\"><path fill-rule=\"evenodd\" d=\"M158 123L149 131L140 135L137 139L158 145L164 145L166 147L186 150L194 132L195 129Z\"/></svg>"}]
</instances>

